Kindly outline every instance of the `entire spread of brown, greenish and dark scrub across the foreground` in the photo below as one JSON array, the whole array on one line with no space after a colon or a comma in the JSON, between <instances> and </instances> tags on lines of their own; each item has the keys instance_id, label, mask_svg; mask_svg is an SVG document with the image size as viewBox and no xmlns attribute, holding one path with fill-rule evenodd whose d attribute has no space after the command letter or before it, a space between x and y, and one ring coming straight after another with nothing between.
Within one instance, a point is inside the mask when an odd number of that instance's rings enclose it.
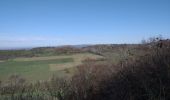
<instances>
[{"instance_id":1,"label":"entire spread of brown, greenish and dark scrub across the foreground","mask_svg":"<svg viewBox=\"0 0 170 100\"><path fill-rule=\"evenodd\" d=\"M125 46L123 45L123 48ZM91 48L91 47L90 47ZM119 48L122 48L119 47ZM2 100L170 100L170 41L125 48L117 63L86 59L71 78L27 82L13 75L0 84ZM90 49L89 49L90 50ZM91 51L106 56L106 51ZM110 52L108 49L107 52Z\"/></svg>"}]
</instances>

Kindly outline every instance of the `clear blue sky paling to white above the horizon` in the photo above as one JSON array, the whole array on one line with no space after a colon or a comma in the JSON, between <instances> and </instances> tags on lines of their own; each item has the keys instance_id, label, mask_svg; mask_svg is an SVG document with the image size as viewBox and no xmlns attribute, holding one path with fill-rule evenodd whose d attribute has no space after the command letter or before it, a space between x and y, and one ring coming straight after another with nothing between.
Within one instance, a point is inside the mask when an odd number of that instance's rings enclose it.
<instances>
[{"instance_id":1,"label":"clear blue sky paling to white above the horizon","mask_svg":"<svg viewBox=\"0 0 170 100\"><path fill-rule=\"evenodd\" d=\"M170 38L170 0L0 0L0 49Z\"/></svg>"}]
</instances>

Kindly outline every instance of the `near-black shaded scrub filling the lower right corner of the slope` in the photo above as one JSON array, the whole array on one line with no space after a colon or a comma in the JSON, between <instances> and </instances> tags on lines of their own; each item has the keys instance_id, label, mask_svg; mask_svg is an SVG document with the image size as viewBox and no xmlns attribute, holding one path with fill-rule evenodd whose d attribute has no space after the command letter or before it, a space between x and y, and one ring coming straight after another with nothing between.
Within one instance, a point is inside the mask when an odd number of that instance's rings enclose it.
<instances>
[{"instance_id":1,"label":"near-black shaded scrub filling the lower right corner of the slope","mask_svg":"<svg viewBox=\"0 0 170 100\"><path fill-rule=\"evenodd\" d=\"M169 51L170 42L159 41L149 55L128 61L100 85L98 100L170 100Z\"/></svg>"}]
</instances>

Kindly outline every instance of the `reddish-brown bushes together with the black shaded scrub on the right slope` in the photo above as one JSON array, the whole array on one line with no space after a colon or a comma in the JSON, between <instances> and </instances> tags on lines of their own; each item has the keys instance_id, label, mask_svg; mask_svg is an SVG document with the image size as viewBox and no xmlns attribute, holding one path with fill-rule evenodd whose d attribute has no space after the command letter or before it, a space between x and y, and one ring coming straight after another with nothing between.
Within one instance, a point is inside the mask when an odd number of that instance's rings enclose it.
<instances>
[{"instance_id":1,"label":"reddish-brown bushes together with the black shaded scrub on the right slope","mask_svg":"<svg viewBox=\"0 0 170 100\"><path fill-rule=\"evenodd\" d=\"M169 41L158 41L149 54L129 59L124 67L79 66L70 83L69 100L170 100L169 51Z\"/></svg>"}]
</instances>

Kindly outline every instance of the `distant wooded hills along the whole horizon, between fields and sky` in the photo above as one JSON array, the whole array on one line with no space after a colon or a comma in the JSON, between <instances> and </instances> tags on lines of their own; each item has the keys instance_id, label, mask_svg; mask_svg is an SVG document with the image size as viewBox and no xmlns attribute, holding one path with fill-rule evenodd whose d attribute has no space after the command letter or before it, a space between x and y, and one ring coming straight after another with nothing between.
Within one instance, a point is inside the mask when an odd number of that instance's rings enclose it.
<instances>
[{"instance_id":1,"label":"distant wooded hills along the whole horizon, between fields and sky","mask_svg":"<svg viewBox=\"0 0 170 100\"><path fill-rule=\"evenodd\" d=\"M96 45L63 45L57 47L37 47L13 50L0 50L0 60L15 57L53 56L90 52L105 57L112 57L122 53L132 55L146 54L154 45L168 44L170 40L160 40L145 44L96 44Z\"/></svg>"}]
</instances>

